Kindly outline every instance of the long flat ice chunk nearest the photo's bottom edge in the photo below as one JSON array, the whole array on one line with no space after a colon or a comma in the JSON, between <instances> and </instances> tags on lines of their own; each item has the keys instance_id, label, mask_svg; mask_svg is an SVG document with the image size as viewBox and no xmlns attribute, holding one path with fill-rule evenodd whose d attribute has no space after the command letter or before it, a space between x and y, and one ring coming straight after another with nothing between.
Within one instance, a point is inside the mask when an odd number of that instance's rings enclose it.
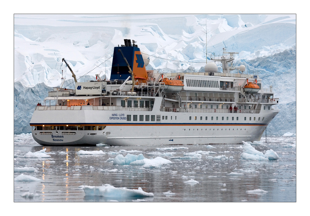
<instances>
[{"instance_id":1,"label":"long flat ice chunk nearest the photo's bottom edge","mask_svg":"<svg viewBox=\"0 0 310 216\"><path fill-rule=\"evenodd\" d=\"M86 196L104 196L104 197L144 197L154 196L153 193L144 192L141 187L137 189L127 189L126 187L114 187L109 184L102 186L87 186L82 185L79 188L83 189Z\"/></svg>"}]
</instances>

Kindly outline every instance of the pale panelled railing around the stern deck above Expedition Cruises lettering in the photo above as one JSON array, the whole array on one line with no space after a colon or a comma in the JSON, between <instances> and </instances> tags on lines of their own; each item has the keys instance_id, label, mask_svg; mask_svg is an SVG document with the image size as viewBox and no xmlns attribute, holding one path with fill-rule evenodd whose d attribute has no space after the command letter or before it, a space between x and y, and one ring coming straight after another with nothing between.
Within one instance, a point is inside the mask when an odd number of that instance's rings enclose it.
<instances>
[{"instance_id":1,"label":"pale panelled railing around the stern deck above Expedition Cruises lettering","mask_svg":"<svg viewBox=\"0 0 310 216\"><path fill-rule=\"evenodd\" d=\"M122 106L36 106L35 110L116 110L116 111L152 111L152 107Z\"/></svg>"}]
</instances>

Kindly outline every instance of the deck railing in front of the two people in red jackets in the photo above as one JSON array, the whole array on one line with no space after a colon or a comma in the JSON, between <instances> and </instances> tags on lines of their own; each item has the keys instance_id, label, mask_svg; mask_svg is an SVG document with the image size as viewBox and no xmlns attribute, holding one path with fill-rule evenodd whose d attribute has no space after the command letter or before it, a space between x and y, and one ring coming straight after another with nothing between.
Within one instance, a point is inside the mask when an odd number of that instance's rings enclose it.
<instances>
[{"instance_id":1,"label":"deck railing in front of the two people in red jackets","mask_svg":"<svg viewBox=\"0 0 310 216\"><path fill-rule=\"evenodd\" d=\"M236 112L229 109L212 109L212 108L173 108L161 107L162 112L209 112L209 113L259 113L259 109L238 109Z\"/></svg>"}]
</instances>

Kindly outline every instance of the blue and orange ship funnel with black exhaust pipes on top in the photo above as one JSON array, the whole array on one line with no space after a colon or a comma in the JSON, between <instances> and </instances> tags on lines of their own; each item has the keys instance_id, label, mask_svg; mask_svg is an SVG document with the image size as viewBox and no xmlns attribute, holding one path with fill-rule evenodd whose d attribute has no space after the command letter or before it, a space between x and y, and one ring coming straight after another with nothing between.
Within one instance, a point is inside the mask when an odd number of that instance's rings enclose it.
<instances>
[{"instance_id":1,"label":"blue and orange ship funnel with black exhaust pipes on top","mask_svg":"<svg viewBox=\"0 0 310 216\"><path fill-rule=\"evenodd\" d=\"M124 42L125 45L114 47L110 80L126 80L128 76L131 76L123 56L118 52L120 49L134 74L135 81L146 82L148 73L140 49L136 44L131 45L131 40L124 39Z\"/></svg>"}]
</instances>

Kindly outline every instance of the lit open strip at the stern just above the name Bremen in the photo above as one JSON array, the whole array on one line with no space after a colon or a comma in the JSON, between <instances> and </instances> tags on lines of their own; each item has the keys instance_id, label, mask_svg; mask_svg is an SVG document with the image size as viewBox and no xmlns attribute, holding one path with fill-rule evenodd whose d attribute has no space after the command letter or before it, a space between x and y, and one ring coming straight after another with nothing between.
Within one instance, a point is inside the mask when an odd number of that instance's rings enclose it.
<instances>
[{"instance_id":1,"label":"lit open strip at the stern just above the name Bremen","mask_svg":"<svg viewBox=\"0 0 310 216\"><path fill-rule=\"evenodd\" d=\"M103 130L106 126L33 126L33 130Z\"/></svg>"}]
</instances>

